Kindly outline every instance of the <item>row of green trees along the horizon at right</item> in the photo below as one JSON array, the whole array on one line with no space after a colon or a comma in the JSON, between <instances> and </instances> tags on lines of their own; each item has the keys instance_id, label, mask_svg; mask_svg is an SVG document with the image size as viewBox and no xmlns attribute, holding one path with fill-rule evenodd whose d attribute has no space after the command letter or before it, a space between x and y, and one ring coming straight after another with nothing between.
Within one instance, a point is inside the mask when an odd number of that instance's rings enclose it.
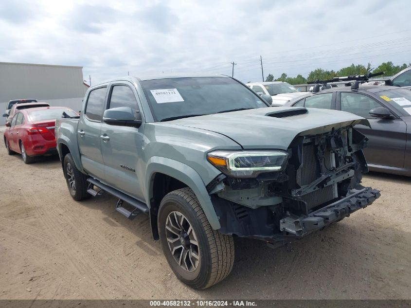
<instances>
[{"instance_id":1,"label":"row of green trees along the horizon at right","mask_svg":"<svg viewBox=\"0 0 411 308\"><path fill-rule=\"evenodd\" d=\"M315 80L329 80L334 77L338 76L352 76L352 75L363 75L368 72L385 72L385 76L392 76L395 75L397 72L400 72L407 67L411 67L411 63L408 65L404 63L403 65L394 65L393 62L383 62L377 68L371 68L371 63L368 63L367 66L362 64L355 65L354 63L350 66L344 67L339 71L326 71L323 69L315 69L311 71L308 76L305 78L303 75L298 74L297 77L288 77L285 72L281 74L280 77L274 79L274 76L269 73L266 81L285 81L292 85L299 85L299 84L306 84L308 81L315 81Z\"/></svg>"}]
</instances>

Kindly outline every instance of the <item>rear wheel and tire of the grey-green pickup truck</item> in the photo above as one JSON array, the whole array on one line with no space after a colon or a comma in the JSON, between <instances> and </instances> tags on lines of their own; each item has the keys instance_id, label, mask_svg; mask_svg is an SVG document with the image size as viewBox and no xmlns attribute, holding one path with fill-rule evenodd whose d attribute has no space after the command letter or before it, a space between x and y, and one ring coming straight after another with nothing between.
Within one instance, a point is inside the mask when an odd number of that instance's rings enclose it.
<instances>
[{"instance_id":1,"label":"rear wheel and tire of the grey-green pickup truck","mask_svg":"<svg viewBox=\"0 0 411 308\"><path fill-rule=\"evenodd\" d=\"M81 201L91 197L87 192L89 186L87 176L77 169L70 153L64 157L63 173L70 195L74 200Z\"/></svg>"}]
</instances>

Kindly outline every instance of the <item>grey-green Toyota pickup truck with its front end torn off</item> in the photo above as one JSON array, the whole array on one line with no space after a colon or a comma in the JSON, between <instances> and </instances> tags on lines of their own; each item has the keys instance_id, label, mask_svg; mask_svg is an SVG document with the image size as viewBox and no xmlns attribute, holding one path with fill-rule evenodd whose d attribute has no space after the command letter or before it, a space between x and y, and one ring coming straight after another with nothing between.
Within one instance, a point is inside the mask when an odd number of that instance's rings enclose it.
<instances>
[{"instance_id":1,"label":"grey-green Toyota pickup truck with its front end torn off","mask_svg":"<svg viewBox=\"0 0 411 308\"><path fill-rule=\"evenodd\" d=\"M56 121L69 192L107 192L125 217L147 214L169 266L197 289L230 273L233 236L274 248L380 196L361 185L367 139L353 127L366 119L269 98L215 75L90 87L81 115Z\"/></svg>"}]
</instances>

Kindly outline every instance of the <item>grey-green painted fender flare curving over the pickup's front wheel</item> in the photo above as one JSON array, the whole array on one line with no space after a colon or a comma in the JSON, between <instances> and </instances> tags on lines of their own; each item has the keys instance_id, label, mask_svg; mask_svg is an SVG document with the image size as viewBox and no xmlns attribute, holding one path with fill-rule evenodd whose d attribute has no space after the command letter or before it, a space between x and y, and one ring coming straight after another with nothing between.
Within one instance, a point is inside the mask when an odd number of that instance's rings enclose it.
<instances>
[{"instance_id":1,"label":"grey-green painted fender flare curving over the pickup's front wheel","mask_svg":"<svg viewBox=\"0 0 411 308\"><path fill-rule=\"evenodd\" d=\"M211 227L214 230L221 228L204 182L196 170L184 163L159 156L153 156L149 159L145 173L146 187L144 190L147 204L150 204L149 200L153 196L154 175L157 172L173 177L190 187L196 195L198 202L200 202L200 205Z\"/></svg>"}]
</instances>

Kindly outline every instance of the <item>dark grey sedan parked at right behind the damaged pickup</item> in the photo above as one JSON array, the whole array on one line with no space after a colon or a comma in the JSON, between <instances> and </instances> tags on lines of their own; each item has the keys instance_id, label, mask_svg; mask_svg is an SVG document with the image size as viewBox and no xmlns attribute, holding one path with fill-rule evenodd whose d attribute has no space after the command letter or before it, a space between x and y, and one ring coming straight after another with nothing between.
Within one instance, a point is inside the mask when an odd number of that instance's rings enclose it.
<instances>
[{"instance_id":1,"label":"dark grey sedan parked at right behind the damaged pickup","mask_svg":"<svg viewBox=\"0 0 411 308\"><path fill-rule=\"evenodd\" d=\"M407 145L411 138L410 90L392 86L333 88L286 105L347 111L368 119L370 127L357 125L356 129L369 138L364 149L369 169L411 176L411 145Z\"/></svg>"}]
</instances>

